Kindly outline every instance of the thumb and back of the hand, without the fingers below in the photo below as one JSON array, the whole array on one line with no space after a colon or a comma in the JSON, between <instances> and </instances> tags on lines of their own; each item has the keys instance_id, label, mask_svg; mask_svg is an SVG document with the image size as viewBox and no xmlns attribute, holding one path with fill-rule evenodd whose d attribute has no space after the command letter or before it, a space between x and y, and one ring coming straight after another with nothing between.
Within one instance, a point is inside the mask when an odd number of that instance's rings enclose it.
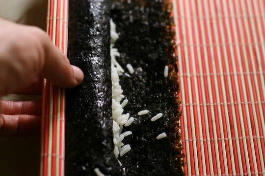
<instances>
[{"instance_id":1,"label":"thumb and back of the hand, without the fingers below","mask_svg":"<svg viewBox=\"0 0 265 176\"><path fill-rule=\"evenodd\" d=\"M80 84L82 71L37 27L0 20L0 96L27 87L37 75L54 85L71 88Z\"/></svg>"}]
</instances>

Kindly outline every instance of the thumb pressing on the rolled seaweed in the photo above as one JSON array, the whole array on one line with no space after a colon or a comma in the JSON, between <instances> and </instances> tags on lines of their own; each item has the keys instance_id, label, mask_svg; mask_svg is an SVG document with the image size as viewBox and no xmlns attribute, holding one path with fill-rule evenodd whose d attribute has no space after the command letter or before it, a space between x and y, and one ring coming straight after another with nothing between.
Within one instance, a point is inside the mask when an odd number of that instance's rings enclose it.
<instances>
[{"instance_id":1,"label":"thumb pressing on the rolled seaweed","mask_svg":"<svg viewBox=\"0 0 265 176\"><path fill-rule=\"evenodd\" d=\"M83 72L77 66L71 66L68 58L62 54L47 36L43 41L45 62L40 73L54 85L71 88L83 80Z\"/></svg>"}]
</instances>

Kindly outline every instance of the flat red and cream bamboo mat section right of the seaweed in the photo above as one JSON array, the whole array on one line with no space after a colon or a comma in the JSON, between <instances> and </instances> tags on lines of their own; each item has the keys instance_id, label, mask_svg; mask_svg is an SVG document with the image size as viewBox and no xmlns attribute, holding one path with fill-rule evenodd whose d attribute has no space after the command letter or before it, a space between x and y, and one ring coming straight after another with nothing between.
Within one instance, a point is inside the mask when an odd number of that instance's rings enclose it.
<instances>
[{"instance_id":1,"label":"flat red and cream bamboo mat section right of the seaweed","mask_svg":"<svg viewBox=\"0 0 265 176\"><path fill-rule=\"evenodd\" d=\"M265 176L265 0L173 0L188 176Z\"/></svg>"}]
</instances>

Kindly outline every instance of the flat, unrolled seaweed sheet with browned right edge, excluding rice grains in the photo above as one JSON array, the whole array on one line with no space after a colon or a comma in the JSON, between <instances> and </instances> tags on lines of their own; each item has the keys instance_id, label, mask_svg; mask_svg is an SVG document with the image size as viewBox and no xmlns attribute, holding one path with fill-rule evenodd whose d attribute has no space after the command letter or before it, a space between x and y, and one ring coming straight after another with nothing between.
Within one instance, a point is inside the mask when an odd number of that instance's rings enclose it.
<instances>
[{"instance_id":1,"label":"flat, unrolled seaweed sheet with browned right edge, excluding rice grains","mask_svg":"<svg viewBox=\"0 0 265 176\"><path fill-rule=\"evenodd\" d=\"M131 151L119 160L128 176L184 175L181 134L179 132L179 82L175 54L173 19L169 0L114 0L111 18L116 23L119 39L115 47L120 52L117 61L123 68L120 76L123 94L129 100L124 112L135 121L123 131L132 131L123 142ZM168 77L163 75L169 67ZM140 110L150 110L138 116ZM151 118L161 112L155 122ZM165 132L167 137L156 137Z\"/></svg>"}]
</instances>

